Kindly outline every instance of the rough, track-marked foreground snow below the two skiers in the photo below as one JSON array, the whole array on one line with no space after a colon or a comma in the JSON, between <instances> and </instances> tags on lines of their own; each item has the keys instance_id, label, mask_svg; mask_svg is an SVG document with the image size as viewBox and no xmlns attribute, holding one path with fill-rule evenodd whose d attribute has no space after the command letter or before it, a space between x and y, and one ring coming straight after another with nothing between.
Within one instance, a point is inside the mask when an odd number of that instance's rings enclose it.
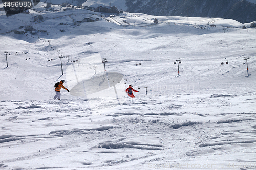
<instances>
[{"instance_id":1,"label":"rough, track-marked foreground snow below the two skiers","mask_svg":"<svg viewBox=\"0 0 256 170\"><path fill-rule=\"evenodd\" d=\"M241 99L255 100L224 94L176 95L120 98L119 106L98 98L91 99L91 108L82 99L1 101L0 143L6 156L0 163L10 169L17 162L19 168L28 168L30 162L32 168L146 169L150 163L215 155L228 162L228 155L255 151L253 109L225 113L218 107L226 103L237 108Z\"/></svg>"}]
</instances>

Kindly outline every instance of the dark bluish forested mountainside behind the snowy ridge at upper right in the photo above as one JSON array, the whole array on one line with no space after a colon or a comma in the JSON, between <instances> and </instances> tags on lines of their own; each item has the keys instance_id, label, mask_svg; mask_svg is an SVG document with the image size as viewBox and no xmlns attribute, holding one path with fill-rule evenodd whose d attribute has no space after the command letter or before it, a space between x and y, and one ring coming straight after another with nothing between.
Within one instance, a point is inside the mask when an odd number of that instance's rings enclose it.
<instances>
[{"instance_id":1,"label":"dark bluish forested mountainside behind the snowy ridge at upper right","mask_svg":"<svg viewBox=\"0 0 256 170\"><path fill-rule=\"evenodd\" d=\"M256 20L256 4L245 0L126 0L128 12L159 16L221 17Z\"/></svg>"}]
</instances>

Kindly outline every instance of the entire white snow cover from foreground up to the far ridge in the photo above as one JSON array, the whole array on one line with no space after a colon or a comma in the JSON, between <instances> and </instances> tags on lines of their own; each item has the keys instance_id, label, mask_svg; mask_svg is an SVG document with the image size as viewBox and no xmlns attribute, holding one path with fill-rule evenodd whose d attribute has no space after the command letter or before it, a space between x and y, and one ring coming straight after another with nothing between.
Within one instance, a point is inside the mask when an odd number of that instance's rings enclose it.
<instances>
[{"instance_id":1,"label":"entire white snow cover from foreground up to the far ridge","mask_svg":"<svg viewBox=\"0 0 256 170\"><path fill-rule=\"evenodd\" d=\"M0 16L0 169L256 169L255 29L44 5Z\"/></svg>"}]
</instances>

